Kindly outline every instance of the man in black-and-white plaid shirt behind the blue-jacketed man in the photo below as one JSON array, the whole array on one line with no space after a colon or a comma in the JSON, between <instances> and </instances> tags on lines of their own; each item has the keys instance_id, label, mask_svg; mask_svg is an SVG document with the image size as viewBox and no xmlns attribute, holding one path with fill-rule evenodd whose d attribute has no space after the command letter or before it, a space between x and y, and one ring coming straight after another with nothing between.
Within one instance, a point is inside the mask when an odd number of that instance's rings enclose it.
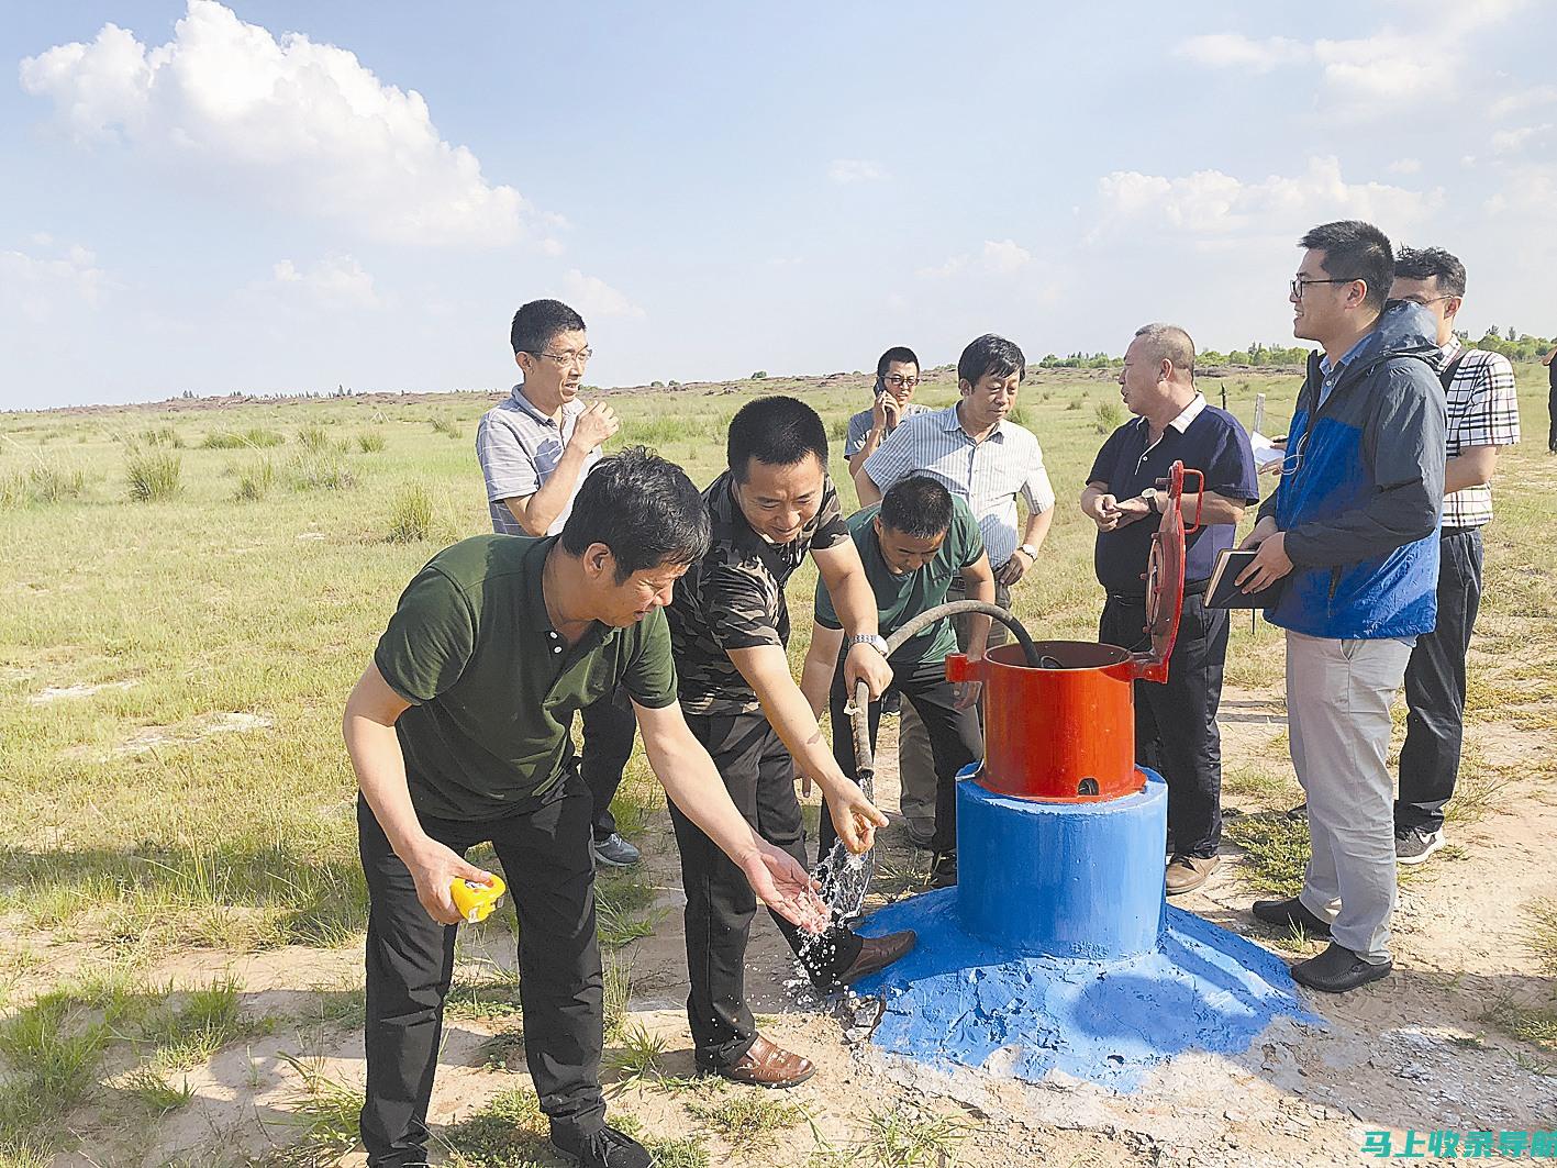
<instances>
[{"instance_id":1,"label":"man in black-and-white plaid shirt behind the blue-jacketed man","mask_svg":"<svg viewBox=\"0 0 1557 1168\"><path fill-rule=\"evenodd\" d=\"M1454 794L1465 723L1465 653L1481 604L1481 529L1492 520L1498 447L1520 441L1513 366L1467 349L1454 335L1465 265L1442 248L1403 248L1392 301L1423 305L1439 324L1436 364L1448 399L1448 463L1439 533L1439 623L1417 637L1406 665L1406 743L1400 749L1395 858L1420 864L1443 847L1443 807Z\"/></svg>"}]
</instances>

